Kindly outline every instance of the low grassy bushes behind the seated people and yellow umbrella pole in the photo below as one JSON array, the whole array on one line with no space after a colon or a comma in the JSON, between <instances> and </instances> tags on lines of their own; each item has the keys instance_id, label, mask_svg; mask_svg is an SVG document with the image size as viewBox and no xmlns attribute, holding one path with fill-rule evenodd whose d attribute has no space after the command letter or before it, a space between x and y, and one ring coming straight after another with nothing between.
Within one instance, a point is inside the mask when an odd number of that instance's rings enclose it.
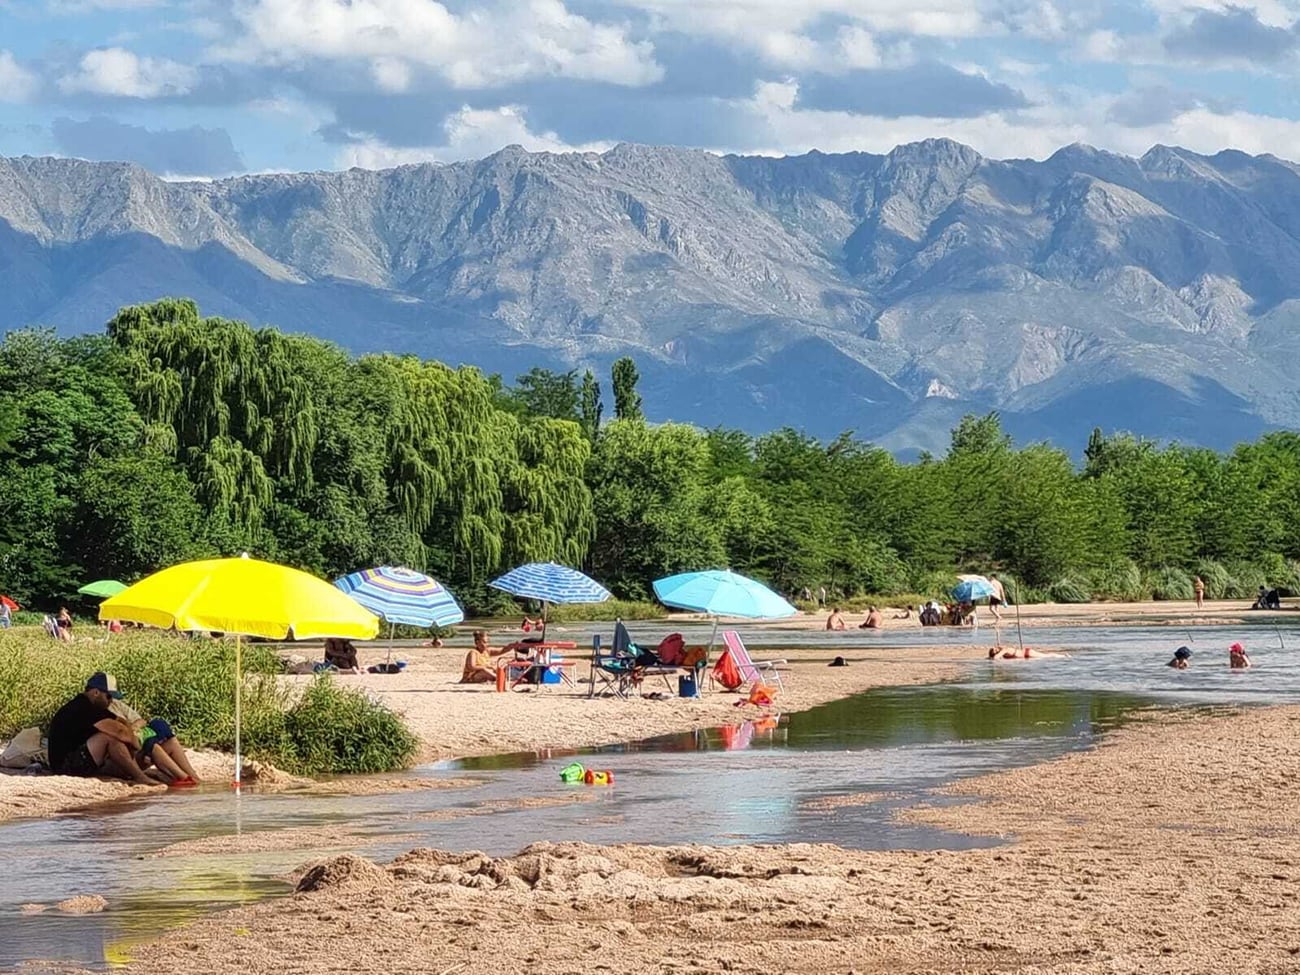
<instances>
[{"instance_id":1,"label":"low grassy bushes behind the seated people and yellow umbrella pole","mask_svg":"<svg viewBox=\"0 0 1300 975\"><path fill-rule=\"evenodd\" d=\"M120 633L62 644L40 630L0 632L0 738L22 728L46 731L95 671L117 677L127 703L165 718L190 748L234 749L233 640ZM415 754L402 719L358 690L329 679L300 694L278 679L280 658L244 644L243 749L290 772L374 772L400 768ZM334 710L330 710L334 708ZM373 741L370 740L373 736Z\"/></svg>"}]
</instances>

